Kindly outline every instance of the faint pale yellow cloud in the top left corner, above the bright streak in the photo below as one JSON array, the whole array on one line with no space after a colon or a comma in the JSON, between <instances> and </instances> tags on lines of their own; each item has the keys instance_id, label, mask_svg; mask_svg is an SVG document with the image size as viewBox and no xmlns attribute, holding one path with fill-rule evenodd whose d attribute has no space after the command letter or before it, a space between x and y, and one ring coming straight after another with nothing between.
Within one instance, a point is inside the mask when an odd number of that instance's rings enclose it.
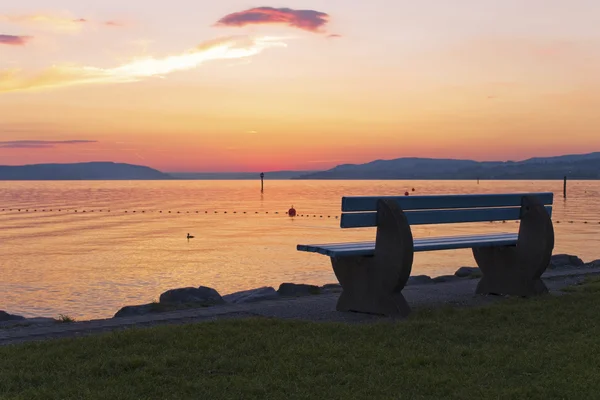
<instances>
[{"instance_id":1,"label":"faint pale yellow cloud in the top left corner, above the bright streak","mask_svg":"<svg viewBox=\"0 0 600 400\"><path fill-rule=\"evenodd\" d=\"M0 22L8 22L31 28L41 28L64 33L79 32L84 26L90 24L104 25L110 27L123 26L122 23L116 21L96 22L87 18L73 17L70 15L52 14L0 14Z\"/></svg>"}]
</instances>

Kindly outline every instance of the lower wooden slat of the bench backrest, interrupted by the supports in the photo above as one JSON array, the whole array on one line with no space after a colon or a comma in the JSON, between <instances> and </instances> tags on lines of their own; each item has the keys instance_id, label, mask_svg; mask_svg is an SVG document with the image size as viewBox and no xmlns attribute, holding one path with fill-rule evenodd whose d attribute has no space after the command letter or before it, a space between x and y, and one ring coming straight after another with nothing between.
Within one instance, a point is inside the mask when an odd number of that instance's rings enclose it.
<instances>
[{"instance_id":1,"label":"lower wooden slat of the bench backrest, interrupted by the supports","mask_svg":"<svg viewBox=\"0 0 600 400\"><path fill-rule=\"evenodd\" d=\"M552 215L552 206L546 206ZM457 210L406 211L409 225L452 224L462 222L516 221L521 217L520 207L473 208ZM377 226L376 212L342 214L342 228L367 228Z\"/></svg>"}]
</instances>

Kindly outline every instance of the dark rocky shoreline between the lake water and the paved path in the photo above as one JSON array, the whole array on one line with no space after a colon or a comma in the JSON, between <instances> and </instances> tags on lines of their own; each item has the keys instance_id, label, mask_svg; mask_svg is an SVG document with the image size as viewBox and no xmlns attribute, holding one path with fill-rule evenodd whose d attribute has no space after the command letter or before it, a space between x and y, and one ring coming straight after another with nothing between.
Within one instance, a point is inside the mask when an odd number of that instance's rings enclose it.
<instances>
[{"instance_id":1,"label":"dark rocky shoreline between the lake water and the paved path","mask_svg":"<svg viewBox=\"0 0 600 400\"><path fill-rule=\"evenodd\" d=\"M570 276L584 276L600 273L600 260L584 263L579 257L568 254L557 254L552 256L550 266L546 269L542 278L545 280L563 279L568 283ZM441 296L440 301L431 301L433 304L456 305L457 299L461 301L468 298L475 298L475 303L481 303L485 297L476 296L474 287L481 277L481 272L476 267L460 267L454 275L442 275L438 277L429 277L427 275L413 275L409 278L403 293L408 292L439 292L436 288L444 287L448 296L438 293ZM454 287L455 289L449 289ZM152 323L153 321L168 321L172 314L176 314L175 319L193 318L195 315L212 315L223 317L225 315L242 312L243 316L248 316L248 310L252 308L268 308L273 304L281 302L318 301L327 298L331 303L330 311L338 314L346 314L335 311L335 302L341 292L341 286L337 283L326 284L323 286L309 284L282 283L279 289L273 287L260 287L244 290L221 296L215 289L200 286L199 288L178 288L171 289L160 296L160 301L124 306L118 310L113 317L99 318L90 320L74 320L68 316L60 315L59 318L34 317L25 318L19 315L12 315L0 311L0 342L2 333L20 329L51 328L81 326L81 324L107 324L107 326L129 325L131 320L142 318L140 323ZM459 293L460 292L460 293ZM466 297L465 297L466 296ZM488 296L489 297L489 296ZM503 296L495 296L502 298ZM471 299L472 300L472 299ZM239 309L236 311L236 309ZM245 311L240 311L245 310ZM232 314L233 313L233 314ZM371 319L375 317L365 317ZM337 319L337 317L329 318ZM344 318L342 318L344 319ZM107 323L109 321L109 323ZM122 323L121 323L122 322ZM137 325L138 323L135 323Z\"/></svg>"}]
</instances>

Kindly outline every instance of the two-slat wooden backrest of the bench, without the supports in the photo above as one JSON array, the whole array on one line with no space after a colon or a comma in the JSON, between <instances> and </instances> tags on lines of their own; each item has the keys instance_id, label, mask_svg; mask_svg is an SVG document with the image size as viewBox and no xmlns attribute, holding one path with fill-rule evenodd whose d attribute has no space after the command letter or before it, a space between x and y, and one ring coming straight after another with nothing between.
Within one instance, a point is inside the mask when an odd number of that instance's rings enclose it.
<instances>
[{"instance_id":1,"label":"two-slat wooden backrest of the bench, without the supports","mask_svg":"<svg viewBox=\"0 0 600 400\"><path fill-rule=\"evenodd\" d=\"M377 200L392 199L410 225L515 221L521 218L524 196L535 196L552 215L553 193L458 194L435 196L342 197L342 228L377 226Z\"/></svg>"}]
</instances>

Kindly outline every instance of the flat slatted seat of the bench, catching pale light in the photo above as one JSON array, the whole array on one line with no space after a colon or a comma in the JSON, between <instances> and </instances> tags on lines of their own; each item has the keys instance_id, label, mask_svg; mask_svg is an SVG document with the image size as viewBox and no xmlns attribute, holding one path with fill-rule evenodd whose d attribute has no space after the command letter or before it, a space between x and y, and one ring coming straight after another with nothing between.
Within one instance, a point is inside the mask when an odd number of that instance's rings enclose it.
<instances>
[{"instance_id":1,"label":"flat slatted seat of the bench, catching pale light","mask_svg":"<svg viewBox=\"0 0 600 400\"><path fill-rule=\"evenodd\" d=\"M453 250L488 246L515 246L518 233L497 233L451 237L430 237L414 239L414 251ZM299 251L319 253L329 257L372 256L375 242L300 244Z\"/></svg>"}]
</instances>

